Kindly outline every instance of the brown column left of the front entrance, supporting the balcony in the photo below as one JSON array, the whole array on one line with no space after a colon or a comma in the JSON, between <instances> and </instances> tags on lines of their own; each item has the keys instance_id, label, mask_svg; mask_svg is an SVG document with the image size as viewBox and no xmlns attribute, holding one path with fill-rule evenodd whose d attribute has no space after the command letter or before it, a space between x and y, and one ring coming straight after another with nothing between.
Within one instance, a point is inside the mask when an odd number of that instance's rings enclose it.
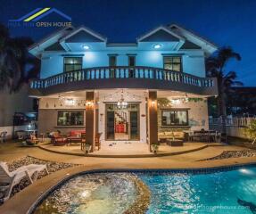
<instances>
[{"instance_id":1,"label":"brown column left of the front entrance, supporting the balcony","mask_svg":"<svg viewBox=\"0 0 256 214\"><path fill-rule=\"evenodd\" d=\"M87 92L86 103L86 142L95 151L95 92Z\"/></svg>"}]
</instances>

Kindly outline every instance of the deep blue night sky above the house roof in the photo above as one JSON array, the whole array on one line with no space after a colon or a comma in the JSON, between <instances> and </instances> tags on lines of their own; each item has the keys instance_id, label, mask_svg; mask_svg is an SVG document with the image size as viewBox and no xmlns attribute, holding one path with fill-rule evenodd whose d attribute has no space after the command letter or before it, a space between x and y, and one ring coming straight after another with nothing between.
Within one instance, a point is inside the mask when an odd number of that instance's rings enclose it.
<instances>
[{"instance_id":1,"label":"deep blue night sky above the house roof","mask_svg":"<svg viewBox=\"0 0 256 214\"><path fill-rule=\"evenodd\" d=\"M256 86L256 1L255 0L0 0L0 21L17 19L37 7L54 7L108 37L110 42L136 42L159 25L178 23L216 45L230 45L241 54L231 62L245 86ZM10 28L12 36L35 41L54 28Z\"/></svg>"}]
</instances>

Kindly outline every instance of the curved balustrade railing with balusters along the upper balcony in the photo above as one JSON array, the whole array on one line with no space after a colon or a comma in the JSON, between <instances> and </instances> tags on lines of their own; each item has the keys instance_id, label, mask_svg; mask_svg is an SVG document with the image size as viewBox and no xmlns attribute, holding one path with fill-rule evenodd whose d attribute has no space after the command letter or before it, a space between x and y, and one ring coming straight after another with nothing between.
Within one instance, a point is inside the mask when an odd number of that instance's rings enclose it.
<instances>
[{"instance_id":1,"label":"curved balustrade railing with balusters along the upper balcony","mask_svg":"<svg viewBox=\"0 0 256 214\"><path fill-rule=\"evenodd\" d=\"M49 86L62 85L70 82L78 82L94 79L120 79L120 78L136 78L136 79L156 79L177 83L183 83L190 86L213 87L214 80L212 78L200 78L183 72L164 70L153 67L96 67L83 70L74 70L57 74L50 78L35 79L30 82L33 89L43 89Z\"/></svg>"}]
</instances>

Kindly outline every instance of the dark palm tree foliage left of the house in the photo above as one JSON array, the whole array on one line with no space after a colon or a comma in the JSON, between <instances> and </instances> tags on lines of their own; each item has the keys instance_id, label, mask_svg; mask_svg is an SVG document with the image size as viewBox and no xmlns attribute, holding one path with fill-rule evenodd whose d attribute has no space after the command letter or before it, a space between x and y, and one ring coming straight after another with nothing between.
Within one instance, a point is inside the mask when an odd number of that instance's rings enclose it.
<instances>
[{"instance_id":1,"label":"dark palm tree foliage left of the house","mask_svg":"<svg viewBox=\"0 0 256 214\"><path fill-rule=\"evenodd\" d=\"M18 91L29 78L36 78L39 62L29 56L29 37L10 37L9 30L0 23L0 90Z\"/></svg>"}]
</instances>

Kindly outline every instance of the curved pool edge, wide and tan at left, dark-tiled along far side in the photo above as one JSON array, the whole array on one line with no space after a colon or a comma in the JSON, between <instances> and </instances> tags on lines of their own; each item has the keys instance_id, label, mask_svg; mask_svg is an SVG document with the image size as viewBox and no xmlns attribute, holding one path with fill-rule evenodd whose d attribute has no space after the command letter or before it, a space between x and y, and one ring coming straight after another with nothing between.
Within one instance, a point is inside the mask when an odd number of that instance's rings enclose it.
<instances>
[{"instance_id":1,"label":"curved pool edge, wide and tan at left, dark-tiled along far side","mask_svg":"<svg viewBox=\"0 0 256 214\"><path fill-rule=\"evenodd\" d=\"M209 174L219 171L234 170L243 167L255 167L256 161L250 161L247 163L234 163L226 166L214 166L207 168L180 168L180 169L132 169L132 168L105 168L103 165L99 166L78 166L69 169L62 169L54 172L53 174L39 179L33 185L29 185L27 188L16 193L10 200L5 202L0 207L0 213L2 214L31 214L42 202L49 193L52 193L56 188L60 187L63 183L71 179L72 177L78 177L79 175L86 175L92 173L107 173L107 172L173 172L173 173L196 173ZM27 198L27 199L26 199Z\"/></svg>"}]
</instances>

